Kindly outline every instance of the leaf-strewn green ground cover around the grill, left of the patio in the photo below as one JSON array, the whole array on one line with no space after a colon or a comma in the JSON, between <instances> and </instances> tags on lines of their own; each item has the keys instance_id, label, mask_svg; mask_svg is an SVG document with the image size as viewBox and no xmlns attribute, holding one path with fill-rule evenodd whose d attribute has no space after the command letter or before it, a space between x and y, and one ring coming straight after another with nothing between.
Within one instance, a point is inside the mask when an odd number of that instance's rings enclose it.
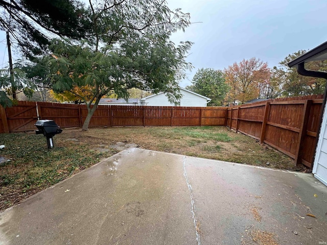
<instances>
[{"instance_id":1,"label":"leaf-strewn green ground cover around the grill, left of the patio","mask_svg":"<svg viewBox=\"0 0 327 245\"><path fill-rule=\"evenodd\" d=\"M48 150L45 138L31 133L1 134L0 154L10 161L0 165L0 210L83 170L112 152L99 153L85 143L54 138Z\"/></svg>"}]
</instances>

